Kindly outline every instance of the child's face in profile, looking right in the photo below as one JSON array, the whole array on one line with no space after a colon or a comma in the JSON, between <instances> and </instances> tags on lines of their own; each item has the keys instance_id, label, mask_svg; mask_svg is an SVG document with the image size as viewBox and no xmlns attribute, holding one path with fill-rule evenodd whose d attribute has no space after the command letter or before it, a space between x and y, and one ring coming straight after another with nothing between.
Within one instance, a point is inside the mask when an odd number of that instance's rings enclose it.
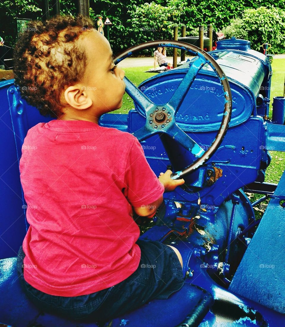
<instances>
[{"instance_id":1,"label":"child's face in profile, looking right","mask_svg":"<svg viewBox=\"0 0 285 327\"><path fill-rule=\"evenodd\" d=\"M122 106L125 93L124 71L115 66L107 39L97 30L88 31L82 43L87 65L82 88L92 99L92 109L99 115Z\"/></svg>"}]
</instances>

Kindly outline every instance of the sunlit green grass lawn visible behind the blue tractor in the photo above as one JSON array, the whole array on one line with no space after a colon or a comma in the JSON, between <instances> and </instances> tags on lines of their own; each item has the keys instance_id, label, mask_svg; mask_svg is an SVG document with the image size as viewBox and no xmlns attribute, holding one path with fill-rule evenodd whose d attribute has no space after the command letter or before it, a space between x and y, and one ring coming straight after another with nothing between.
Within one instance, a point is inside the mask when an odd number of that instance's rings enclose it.
<instances>
[{"instance_id":1,"label":"sunlit green grass lawn visible behind the blue tractor","mask_svg":"<svg viewBox=\"0 0 285 327\"><path fill-rule=\"evenodd\" d=\"M156 75L156 73L144 73L150 67L130 67L124 68L125 76L128 77L136 86L138 86L145 79ZM272 117L272 102L274 96L282 96L284 88L285 75L285 59L273 59L272 63L273 76L271 82L271 96L270 96L270 115ZM114 111L114 113L128 113L130 109L134 108L133 100L125 93L123 98L122 108ZM278 183L280 177L285 170L285 152L270 151L272 161L266 170L266 182ZM252 201L259 198L258 195L252 197ZM258 210L258 208L257 208ZM261 212L260 212L261 213ZM259 213L257 213L257 216Z\"/></svg>"}]
</instances>

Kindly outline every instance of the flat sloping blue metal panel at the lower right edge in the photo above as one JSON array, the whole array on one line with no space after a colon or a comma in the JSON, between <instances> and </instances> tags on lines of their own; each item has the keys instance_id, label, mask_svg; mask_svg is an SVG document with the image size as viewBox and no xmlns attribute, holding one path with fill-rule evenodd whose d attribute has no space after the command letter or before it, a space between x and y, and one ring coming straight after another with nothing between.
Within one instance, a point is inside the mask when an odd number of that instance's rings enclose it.
<instances>
[{"instance_id":1,"label":"flat sloping blue metal panel at the lower right edge","mask_svg":"<svg viewBox=\"0 0 285 327\"><path fill-rule=\"evenodd\" d=\"M285 208L278 199L285 195L285 172L274 195L229 290L285 314Z\"/></svg>"}]
</instances>

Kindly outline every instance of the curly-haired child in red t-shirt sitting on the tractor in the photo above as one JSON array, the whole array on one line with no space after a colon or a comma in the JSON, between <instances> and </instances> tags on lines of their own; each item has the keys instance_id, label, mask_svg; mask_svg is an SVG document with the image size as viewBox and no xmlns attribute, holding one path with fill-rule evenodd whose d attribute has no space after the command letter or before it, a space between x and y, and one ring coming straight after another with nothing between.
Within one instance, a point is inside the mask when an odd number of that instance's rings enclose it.
<instances>
[{"instance_id":1,"label":"curly-haired child in red t-shirt sitting on the tractor","mask_svg":"<svg viewBox=\"0 0 285 327\"><path fill-rule=\"evenodd\" d=\"M142 241L133 216L151 217L184 180L157 178L130 133L98 125L118 109L124 71L84 16L30 22L14 53L15 83L42 115L29 129L20 178L30 224L17 268L43 311L106 321L183 283L177 249Z\"/></svg>"}]
</instances>

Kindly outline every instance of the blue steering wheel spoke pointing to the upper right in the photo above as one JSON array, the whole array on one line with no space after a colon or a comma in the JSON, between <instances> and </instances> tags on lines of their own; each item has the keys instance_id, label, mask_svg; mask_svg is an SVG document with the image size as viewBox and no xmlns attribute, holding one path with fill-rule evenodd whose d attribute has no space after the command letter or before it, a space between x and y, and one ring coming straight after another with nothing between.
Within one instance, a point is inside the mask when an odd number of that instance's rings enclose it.
<instances>
[{"instance_id":1,"label":"blue steering wheel spoke pointing to the upper right","mask_svg":"<svg viewBox=\"0 0 285 327\"><path fill-rule=\"evenodd\" d=\"M181 103L183 102L184 97L186 96L190 86L192 85L200 69L204 66L206 62L207 61L204 58L198 57L197 60L193 62L191 68L188 69L188 72L181 80L181 83L174 92L174 95L172 95L171 99L168 102L168 105L170 105L172 108L175 108L175 112L177 112L180 108Z\"/></svg>"}]
</instances>

